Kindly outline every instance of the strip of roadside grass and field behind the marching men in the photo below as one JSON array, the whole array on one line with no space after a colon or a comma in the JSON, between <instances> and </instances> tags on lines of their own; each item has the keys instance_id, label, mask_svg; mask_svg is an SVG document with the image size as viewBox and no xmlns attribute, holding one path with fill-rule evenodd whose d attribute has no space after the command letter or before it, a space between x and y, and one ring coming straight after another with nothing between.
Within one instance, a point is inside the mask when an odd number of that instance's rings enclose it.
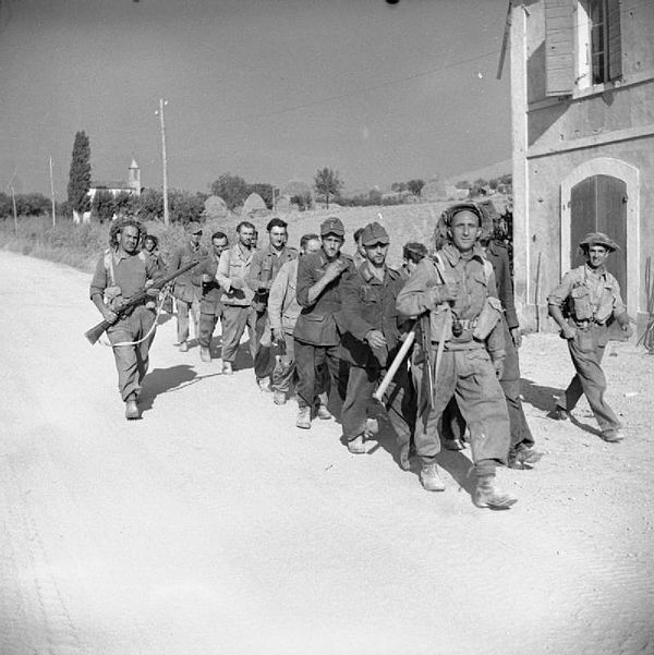
<instances>
[{"instance_id":1,"label":"strip of roadside grass and field behind the marching men","mask_svg":"<svg viewBox=\"0 0 654 655\"><path fill-rule=\"evenodd\" d=\"M289 245L298 246L302 234L319 233L320 223L327 216L338 216L346 227L343 251L352 254L352 234L368 222L378 221L390 236L388 262L401 263L402 245L408 241L429 244L434 225L448 202L421 203L415 205L393 205L387 207L330 207L277 214L289 223ZM272 214L251 220L259 233L258 245L265 246L266 223ZM203 225L203 243L209 243L216 231L225 232L230 243L235 241L235 228L241 217L230 215L225 219L207 221ZM184 242L184 229L180 225L166 228L160 221L144 223L148 233L159 238L159 251L166 259ZM71 219L60 218L52 226L49 216L20 217L17 234L13 219L0 220L0 248L22 253L32 257L68 264L86 272L93 272L99 255L108 247L110 223L89 222L76 225Z\"/></svg>"}]
</instances>

